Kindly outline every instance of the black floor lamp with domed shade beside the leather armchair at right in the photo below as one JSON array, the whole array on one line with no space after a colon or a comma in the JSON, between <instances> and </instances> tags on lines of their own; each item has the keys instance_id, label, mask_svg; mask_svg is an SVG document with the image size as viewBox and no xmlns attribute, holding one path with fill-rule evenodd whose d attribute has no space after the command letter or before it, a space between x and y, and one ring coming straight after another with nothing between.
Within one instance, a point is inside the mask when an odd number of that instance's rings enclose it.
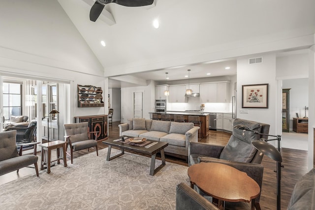
<instances>
[{"instance_id":1,"label":"black floor lamp with domed shade beside the leather armchair at right","mask_svg":"<svg viewBox=\"0 0 315 210\"><path fill-rule=\"evenodd\" d=\"M272 144L268 143L266 140L261 138L260 140L254 140L252 141L252 145L259 151L261 151L263 154L267 155L269 158L277 161L277 210L281 210L281 163L282 163L282 156L280 153L280 141L281 141L281 136L277 135L269 135L269 134L261 134L257 131L251 130L248 126L246 125L236 125L233 127L233 129L240 129L243 130L243 135L245 131L251 131L254 134L259 134L259 135L265 135L269 137L276 137L276 139L271 139L271 140L278 140L278 149L274 147Z\"/></svg>"}]
</instances>

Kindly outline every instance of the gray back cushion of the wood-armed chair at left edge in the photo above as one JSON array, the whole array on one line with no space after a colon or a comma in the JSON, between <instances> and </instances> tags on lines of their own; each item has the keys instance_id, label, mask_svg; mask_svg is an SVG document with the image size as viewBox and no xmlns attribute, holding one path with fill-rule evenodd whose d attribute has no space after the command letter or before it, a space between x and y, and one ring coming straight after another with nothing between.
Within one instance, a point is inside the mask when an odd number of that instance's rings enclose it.
<instances>
[{"instance_id":1,"label":"gray back cushion of the wood-armed chair at left edge","mask_svg":"<svg viewBox=\"0 0 315 210\"><path fill-rule=\"evenodd\" d=\"M0 139L0 161L18 157L16 148L16 130L1 133Z\"/></svg>"}]
</instances>

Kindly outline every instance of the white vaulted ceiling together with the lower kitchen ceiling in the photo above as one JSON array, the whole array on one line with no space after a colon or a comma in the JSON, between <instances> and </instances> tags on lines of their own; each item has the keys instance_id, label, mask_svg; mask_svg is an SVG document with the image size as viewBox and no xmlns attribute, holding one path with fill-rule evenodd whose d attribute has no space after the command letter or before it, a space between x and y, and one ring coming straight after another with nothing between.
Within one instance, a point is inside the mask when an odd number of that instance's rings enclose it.
<instances>
[{"instance_id":1,"label":"white vaulted ceiling together with the lower kitchen ceiling","mask_svg":"<svg viewBox=\"0 0 315 210\"><path fill-rule=\"evenodd\" d=\"M264 43L315 33L314 0L155 0L143 7L110 3L96 22L89 19L93 0L58 1L110 78L133 75L161 81L167 71L170 80L178 80L185 79L188 69L190 78L208 76L207 72L235 74L235 58L189 65L188 55L224 53L229 43L244 47L253 40ZM158 29L153 27L155 19ZM168 65L185 56L184 66ZM157 68L147 67L151 63ZM231 69L225 70L226 66ZM141 72L130 73L130 67Z\"/></svg>"}]
</instances>

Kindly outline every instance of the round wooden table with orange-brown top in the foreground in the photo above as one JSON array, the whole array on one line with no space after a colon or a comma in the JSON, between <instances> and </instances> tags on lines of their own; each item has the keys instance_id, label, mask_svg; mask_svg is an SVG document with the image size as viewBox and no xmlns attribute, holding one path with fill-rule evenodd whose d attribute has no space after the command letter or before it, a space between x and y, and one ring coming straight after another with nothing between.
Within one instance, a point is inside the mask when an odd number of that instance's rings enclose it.
<instances>
[{"instance_id":1,"label":"round wooden table with orange-brown top in the foreground","mask_svg":"<svg viewBox=\"0 0 315 210\"><path fill-rule=\"evenodd\" d=\"M213 203L223 209L223 201L248 202L259 196L260 187L245 172L221 163L195 164L189 167L190 186L198 186L206 194L213 197Z\"/></svg>"}]
</instances>

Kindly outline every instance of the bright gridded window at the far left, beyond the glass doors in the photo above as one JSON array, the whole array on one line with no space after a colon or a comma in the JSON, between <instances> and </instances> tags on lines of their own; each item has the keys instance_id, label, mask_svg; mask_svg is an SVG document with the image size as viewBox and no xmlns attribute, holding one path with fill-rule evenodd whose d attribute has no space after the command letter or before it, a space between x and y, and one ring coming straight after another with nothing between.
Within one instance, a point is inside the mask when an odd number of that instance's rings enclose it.
<instances>
[{"instance_id":1,"label":"bright gridded window at the far left, beyond the glass doors","mask_svg":"<svg viewBox=\"0 0 315 210\"><path fill-rule=\"evenodd\" d=\"M22 84L3 82L4 120L9 120L11 115L22 115Z\"/></svg>"}]
</instances>

